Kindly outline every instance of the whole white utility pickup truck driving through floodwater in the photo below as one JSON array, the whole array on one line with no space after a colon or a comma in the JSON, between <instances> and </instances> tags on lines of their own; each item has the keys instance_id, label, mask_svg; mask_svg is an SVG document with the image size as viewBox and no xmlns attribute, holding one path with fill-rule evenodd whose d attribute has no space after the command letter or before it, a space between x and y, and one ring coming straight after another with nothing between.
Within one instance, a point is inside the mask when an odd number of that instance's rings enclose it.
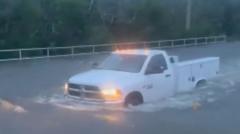
<instances>
[{"instance_id":1,"label":"whole white utility pickup truck driving through floodwater","mask_svg":"<svg viewBox=\"0 0 240 134\"><path fill-rule=\"evenodd\" d=\"M122 50L71 77L64 93L85 102L138 105L191 91L218 72L219 57L178 62L161 50Z\"/></svg>"}]
</instances>

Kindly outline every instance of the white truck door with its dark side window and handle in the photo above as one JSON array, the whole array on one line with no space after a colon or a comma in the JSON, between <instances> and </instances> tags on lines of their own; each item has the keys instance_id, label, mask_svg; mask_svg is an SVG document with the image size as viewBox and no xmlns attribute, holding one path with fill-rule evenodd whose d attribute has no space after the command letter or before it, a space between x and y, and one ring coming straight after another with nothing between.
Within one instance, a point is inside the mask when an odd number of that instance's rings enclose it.
<instances>
[{"instance_id":1,"label":"white truck door with its dark side window and handle","mask_svg":"<svg viewBox=\"0 0 240 134\"><path fill-rule=\"evenodd\" d=\"M146 100L155 101L174 93L174 78L163 55L153 56L145 70Z\"/></svg>"}]
</instances>

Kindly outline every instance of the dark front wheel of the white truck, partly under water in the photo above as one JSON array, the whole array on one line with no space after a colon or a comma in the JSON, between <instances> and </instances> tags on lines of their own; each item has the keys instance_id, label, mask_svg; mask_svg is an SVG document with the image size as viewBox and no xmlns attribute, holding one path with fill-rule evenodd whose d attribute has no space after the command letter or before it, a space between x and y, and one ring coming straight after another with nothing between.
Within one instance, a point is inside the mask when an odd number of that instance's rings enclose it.
<instances>
[{"instance_id":1,"label":"dark front wheel of the white truck, partly under water","mask_svg":"<svg viewBox=\"0 0 240 134\"><path fill-rule=\"evenodd\" d=\"M124 101L124 106L128 107L129 105L137 106L143 104L143 96L139 92L130 93Z\"/></svg>"}]
</instances>

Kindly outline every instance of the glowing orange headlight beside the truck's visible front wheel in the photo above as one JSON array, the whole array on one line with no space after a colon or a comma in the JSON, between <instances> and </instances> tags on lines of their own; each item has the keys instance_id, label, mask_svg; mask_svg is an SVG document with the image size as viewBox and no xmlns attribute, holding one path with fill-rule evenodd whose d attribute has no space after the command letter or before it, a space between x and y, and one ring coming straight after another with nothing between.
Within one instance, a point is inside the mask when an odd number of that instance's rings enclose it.
<instances>
[{"instance_id":1,"label":"glowing orange headlight beside the truck's visible front wheel","mask_svg":"<svg viewBox=\"0 0 240 134\"><path fill-rule=\"evenodd\" d=\"M101 94L105 100L115 101L122 99L122 92L119 89L103 89Z\"/></svg>"}]
</instances>

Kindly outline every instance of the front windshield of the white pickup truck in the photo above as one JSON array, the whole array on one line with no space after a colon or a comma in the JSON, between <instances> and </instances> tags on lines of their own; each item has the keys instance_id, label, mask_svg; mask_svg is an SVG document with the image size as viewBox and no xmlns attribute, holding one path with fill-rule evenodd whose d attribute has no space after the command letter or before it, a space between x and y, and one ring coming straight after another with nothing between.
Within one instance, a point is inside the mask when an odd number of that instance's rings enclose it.
<instances>
[{"instance_id":1,"label":"front windshield of the white pickup truck","mask_svg":"<svg viewBox=\"0 0 240 134\"><path fill-rule=\"evenodd\" d=\"M145 55L111 54L97 69L138 73L146 60Z\"/></svg>"}]
</instances>

